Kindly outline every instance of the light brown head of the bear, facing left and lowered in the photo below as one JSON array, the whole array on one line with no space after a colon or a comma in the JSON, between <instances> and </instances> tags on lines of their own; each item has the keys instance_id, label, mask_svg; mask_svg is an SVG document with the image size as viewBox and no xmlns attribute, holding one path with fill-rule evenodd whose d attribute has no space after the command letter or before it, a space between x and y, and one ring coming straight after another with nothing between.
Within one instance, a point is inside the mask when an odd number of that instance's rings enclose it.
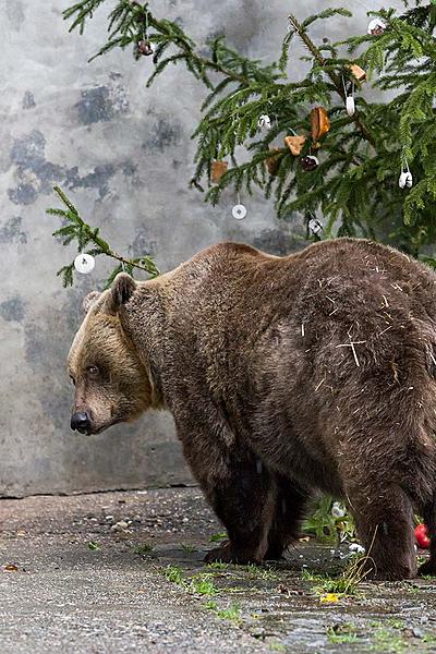
<instances>
[{"instance_id":1,"label":"light brown head of the bear, facing left and lowered","mask_svg":"<svg viewBox=\"0 0 436 654\"><path fill-rule=\"evenodd\" d=\"M112 287L89 293L68 367L75 386L71 428L97 434L135 420L153 405L153 384L126 329L135 281L120 274Z\"/></svg>"}]
</instances>

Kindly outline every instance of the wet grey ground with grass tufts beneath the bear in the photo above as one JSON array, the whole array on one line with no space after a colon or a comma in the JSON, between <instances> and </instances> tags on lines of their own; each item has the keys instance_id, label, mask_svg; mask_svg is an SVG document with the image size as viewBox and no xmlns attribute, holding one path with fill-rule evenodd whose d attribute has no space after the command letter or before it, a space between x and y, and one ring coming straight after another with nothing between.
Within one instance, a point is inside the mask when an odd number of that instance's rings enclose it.
<instances>
[{"instance_id":1,"label":"wet grey ground with grass tufts beneath the bear","mask_svg":"<svg viewBox=\"0 0 436 654\"><path fill-rule=\"evenodd\" d=\"M2 654L436 652L436 579L342 594L344 559L305 542L207 566L196 488L0 500L0 528Z\"/></svg>"}]
</instances>

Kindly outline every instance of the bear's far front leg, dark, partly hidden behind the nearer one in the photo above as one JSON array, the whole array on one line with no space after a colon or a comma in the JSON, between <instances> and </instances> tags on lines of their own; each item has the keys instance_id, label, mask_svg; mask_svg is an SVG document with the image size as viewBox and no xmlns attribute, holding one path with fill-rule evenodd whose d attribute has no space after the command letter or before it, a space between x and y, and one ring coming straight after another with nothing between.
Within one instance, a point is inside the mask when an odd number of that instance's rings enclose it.
<instances>
[{"instance_id":1,"label":"bear's far front leg, dark, partly hidden behind the nearer one","mask_svg":"<svg viewBox=\"0 0 436 654\"><path fill-rule=\"evenodd\" d=\"M284 549L300 535L310 495L296 482L280 474L275 475L276 506L268 534L267 560L280 559Z\"/></svg>"}]
</instances>

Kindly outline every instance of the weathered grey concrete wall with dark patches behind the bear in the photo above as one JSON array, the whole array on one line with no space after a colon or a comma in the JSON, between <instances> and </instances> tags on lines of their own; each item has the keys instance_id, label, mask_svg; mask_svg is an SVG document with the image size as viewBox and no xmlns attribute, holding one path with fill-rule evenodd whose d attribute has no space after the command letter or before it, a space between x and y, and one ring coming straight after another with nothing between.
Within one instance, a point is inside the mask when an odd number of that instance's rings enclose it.
<instances>
[{"instance_id":1,"label":"weathered grey concrete wall with dark patches behind the bear","mask_svg":"<svg viewBox=\"0 0 436 654\"><path fill-rule=\"evenodd\" d=\"M304 16L326 5L320 0L155 4L159 15L180 19L195 38L223 29L232 45L265 61L279 51L289 10ZM366 29L365 8L377 3L348 4L356 17L336 20L331 38L351 25ZM210 208L187 189L194 152L190 134L203 87L180 66L145 89L153 63L150 58L135 62L131 51L117 50L88 64L104 40L106 9L81 37L68 34L61 17L66 5L58 0L0 0L3 495L191 479L168 415L150 414L92 438L70 432L65 355L81 320L82 298L105 278L108 265L98 261L94 274L82 277L74 289L61 288L56 270L71 261L73 250L50 235L59 225L45 216L55 202L53 183L68 191L93 225L101 226L113 247L128 254L152 252L162 270L223 239L278 254L292 249L294 227L275 219L271 203L242 197L249 215L237 222L230 213L232 193Z\"/></svg>"}]
</instances>

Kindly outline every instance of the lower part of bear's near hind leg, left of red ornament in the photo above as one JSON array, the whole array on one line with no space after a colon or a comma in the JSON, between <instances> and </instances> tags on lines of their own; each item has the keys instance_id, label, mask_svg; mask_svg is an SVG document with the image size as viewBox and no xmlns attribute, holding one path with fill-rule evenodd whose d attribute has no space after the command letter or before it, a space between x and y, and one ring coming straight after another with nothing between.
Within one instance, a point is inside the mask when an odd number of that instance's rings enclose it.
<instances>
[{"instance_id":1,"label":"lower part of bear's near hind leg, left of red ornament","mask_svg":"<svg viewBox=\"0 0 436 654\"><path fill-rule=\"evenodd\" d=\"M366 549L366 578L396 581L415 577L413 509L407 493L373 480L366 481L364 488L347 488L347 496Z\"/></svg>"}]
</instances>

